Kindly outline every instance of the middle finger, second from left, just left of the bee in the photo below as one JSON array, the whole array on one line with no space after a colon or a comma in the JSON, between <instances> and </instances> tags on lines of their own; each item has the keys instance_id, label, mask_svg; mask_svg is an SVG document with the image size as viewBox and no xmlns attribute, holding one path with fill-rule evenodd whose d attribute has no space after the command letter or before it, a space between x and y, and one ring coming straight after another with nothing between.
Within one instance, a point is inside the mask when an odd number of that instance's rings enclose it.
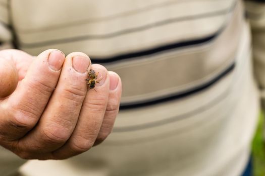
<instances>
[{"instance_id":1,"label":"middle finger, second from left, just left of the bee","mask_svg":"<svg viewBox=\"0 0 265 176\"><path fill-rule=\"evenodd\" d=\"M37 126L20 140L22 150L49 152L61 147L72 134L87 92L89 57L74 52L66 57L56 90Z\"/></svg>"}]
</instances>

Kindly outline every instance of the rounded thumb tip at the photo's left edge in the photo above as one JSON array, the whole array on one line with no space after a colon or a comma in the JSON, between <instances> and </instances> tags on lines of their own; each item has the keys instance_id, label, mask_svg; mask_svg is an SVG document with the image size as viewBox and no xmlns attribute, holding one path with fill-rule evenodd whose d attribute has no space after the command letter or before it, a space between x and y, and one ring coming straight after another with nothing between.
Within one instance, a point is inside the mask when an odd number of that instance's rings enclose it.
<instances>
[{"instance_id":1,"label":"rounded thumb tip at the photo's left edge","mask_svg":"<svg viewBox=\"0 0 265 176\"><path fill-rule=\"evenodd\" d=\"M0 99L11 95L18 84L18 71L12 59L0 58Z\"/></svg>"}]
</instances>

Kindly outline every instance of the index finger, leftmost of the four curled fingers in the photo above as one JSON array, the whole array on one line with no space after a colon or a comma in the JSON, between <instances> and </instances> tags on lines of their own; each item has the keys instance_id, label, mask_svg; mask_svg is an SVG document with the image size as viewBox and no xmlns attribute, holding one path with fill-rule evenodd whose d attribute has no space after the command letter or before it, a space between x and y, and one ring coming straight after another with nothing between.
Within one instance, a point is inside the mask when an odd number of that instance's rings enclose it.
<instances>
[{"instance_id":1,"label":"index finger, leftmost of the four curled fingers","mask_svg":"<svg viewBox=\"0 0 265 176\"><path fill-rule=\"evenodd\" d=\"M56 87L64 59L61 51L46 50L33 61L15 92L1 103L2 137L18 139L35 126Z\"/></svg>"}]
</instances>

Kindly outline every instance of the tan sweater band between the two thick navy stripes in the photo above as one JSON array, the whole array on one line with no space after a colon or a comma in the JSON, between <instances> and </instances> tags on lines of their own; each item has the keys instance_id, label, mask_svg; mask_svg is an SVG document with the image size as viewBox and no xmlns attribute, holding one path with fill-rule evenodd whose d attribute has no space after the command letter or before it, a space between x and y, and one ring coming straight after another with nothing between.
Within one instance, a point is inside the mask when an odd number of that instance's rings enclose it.
<instances>
[{"instance_id":1,"label":"tan sweater band between the two thick navy stripes","mask_svg":"<svg viewBox=\"0 0 265 176\"><path fill-rule=\"evenodd\" d=\"M240 32L235 34L234 31L242 28L241 12L241 9L235 11L229 26L213 43L106 65L121 75L122 103L181 92L223 72L235 58ZM227 43L231 38L233 40Z\"/></svg>"}]
</instances>

